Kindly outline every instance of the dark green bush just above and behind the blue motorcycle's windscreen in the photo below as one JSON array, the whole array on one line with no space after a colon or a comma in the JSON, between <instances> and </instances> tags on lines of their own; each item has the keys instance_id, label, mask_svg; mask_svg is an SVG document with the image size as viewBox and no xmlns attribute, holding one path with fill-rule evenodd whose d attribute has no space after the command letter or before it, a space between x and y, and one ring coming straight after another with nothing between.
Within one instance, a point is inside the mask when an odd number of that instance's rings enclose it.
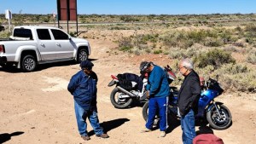
<instances>
[{"instance_id":1,"label":"dark green bush just above and behind the blue motorcycle's windscreen","mask_svg":"<svg viewBox=\"0 0 256 144\"><path fill-rule=\"evenodd\" d=\"M207 53L202 53L196 56L194 60L199 67L212 65L215 69L225 63L236 63L236 60L231 56L231 54L222 49L209 50Z\"/></svg>"}]
</instances>

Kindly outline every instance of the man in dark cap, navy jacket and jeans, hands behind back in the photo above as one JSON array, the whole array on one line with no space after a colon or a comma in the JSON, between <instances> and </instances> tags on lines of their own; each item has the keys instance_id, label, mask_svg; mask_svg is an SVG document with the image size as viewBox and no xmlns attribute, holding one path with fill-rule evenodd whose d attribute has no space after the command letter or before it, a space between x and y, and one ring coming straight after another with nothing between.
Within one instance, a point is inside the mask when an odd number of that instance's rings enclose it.
<instances>
[{"instance_id":1,"label":"man in dark cap, navy jacket and jeans, hands behind back","mask_svg":"<svg viewBox=\"0 0 256 144\"><path fill-rule=\"evenodd\" d=\"M108 138L108 135L103 133L97 116L96 84L98 78L92 71L92 66L94 65L89 60L82 61L80 64L82 70L73 75L67 86L68 91L73 95L79 134L85 141L90 140L86 118L89 118L97 137Z\"/></svg>"}]
</instances>

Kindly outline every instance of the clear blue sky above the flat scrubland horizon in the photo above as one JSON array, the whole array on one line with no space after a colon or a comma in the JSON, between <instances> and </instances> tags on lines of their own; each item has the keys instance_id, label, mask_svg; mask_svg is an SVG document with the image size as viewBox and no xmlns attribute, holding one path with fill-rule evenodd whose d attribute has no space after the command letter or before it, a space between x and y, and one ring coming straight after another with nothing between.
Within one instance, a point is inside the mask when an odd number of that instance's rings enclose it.
<instances>
[{"instance_id":1,"label":"clear blue sky above the flat scrubland horizon","mask_svg":"<svg viewBox=\"0 0 256 144\"><path fill-rule=\"evenodd\" d=\"M78 14L256 14L256 0L77 0ZM0 0L0 14L52 14L56 0Z\"/></svg>"}]
</instances>

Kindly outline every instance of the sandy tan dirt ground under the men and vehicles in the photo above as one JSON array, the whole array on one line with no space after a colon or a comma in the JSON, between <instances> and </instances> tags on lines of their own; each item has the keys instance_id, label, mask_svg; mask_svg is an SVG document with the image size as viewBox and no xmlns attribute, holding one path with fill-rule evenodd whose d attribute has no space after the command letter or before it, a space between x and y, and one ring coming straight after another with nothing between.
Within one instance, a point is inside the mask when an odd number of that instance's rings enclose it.
<instances>
[{"instance_id":1,"label":"sandy tan dirt ground under the men and vehicles","mask_svg":"<svg viewBox=\"0 0 256 144\"><path fill-rule=\"evenodd\" d=\"M89 39L92 48L90 60L95 64L98 82L98 114L100 123L110 138L97 138L89 124L90 141L80 138L73 109L73 96L67 84L79 65L72 62L42 65L36 72L3 70L0 67L0 143L6 144L179 144L182 143L180 125L170 122L166 137L160 130L140 133L144 128L142 107L116 109L109 95L111 74L133 72L138 74L142 60L152 60L164 66L172 63L164 55L128 55L114 53L115 43L108 39ZM220 95L217 101L230 108L233 124L227 130L212 130L227 144L253 144L256 141L256 95ZM196 127L199 130L199 127Z\"/></svg>"}]
</instances>

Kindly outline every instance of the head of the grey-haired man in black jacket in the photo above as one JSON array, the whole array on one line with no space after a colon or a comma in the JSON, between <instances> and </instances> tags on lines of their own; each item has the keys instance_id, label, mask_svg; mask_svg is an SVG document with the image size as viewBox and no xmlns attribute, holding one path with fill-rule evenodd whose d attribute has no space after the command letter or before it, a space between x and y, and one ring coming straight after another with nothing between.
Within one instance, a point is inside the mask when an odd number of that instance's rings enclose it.
<instances>
[{"instance_id":1,"label":"head of the grey-haired man in black jacket","mask_svg":"<svg viewBox=\"0 0 256 144\"><path fill-rule=\"evenodd\" d=\"M178 64L178 70L183 76L187 76L194 68L194 64L189 59L183 59Z\"/></svg>"}]
</instances>

